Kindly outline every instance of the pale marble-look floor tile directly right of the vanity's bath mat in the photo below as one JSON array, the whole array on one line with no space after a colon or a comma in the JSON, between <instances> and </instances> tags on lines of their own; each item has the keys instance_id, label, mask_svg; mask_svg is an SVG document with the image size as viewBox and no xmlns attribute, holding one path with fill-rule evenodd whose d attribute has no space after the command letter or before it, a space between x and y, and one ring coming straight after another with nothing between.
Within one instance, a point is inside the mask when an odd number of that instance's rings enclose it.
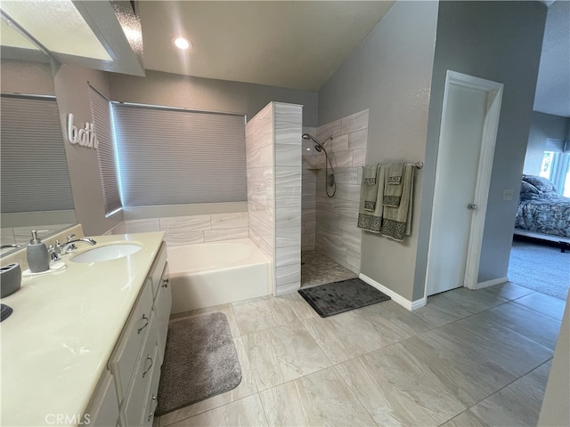
<instances>
[{"instance_id":1,"label":"pale marble-look floor tile directly right of the vanity's bath mat","mask_svg":"<svg viewBox=\"0 0 570 427\"><path fill-rule=\"evenodd\" d=\"M330 360L299 322L242 339L259 391L330 367Z\"/></svg>"}]
</instances>

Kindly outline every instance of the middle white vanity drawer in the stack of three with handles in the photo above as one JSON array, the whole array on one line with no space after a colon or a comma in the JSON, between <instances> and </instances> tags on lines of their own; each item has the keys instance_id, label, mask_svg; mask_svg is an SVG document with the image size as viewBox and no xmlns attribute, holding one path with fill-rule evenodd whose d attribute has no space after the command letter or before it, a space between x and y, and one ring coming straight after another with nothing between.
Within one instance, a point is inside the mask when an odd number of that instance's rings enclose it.
<instances>
[{"instance_id":1,"label":"middle white vanity drawer in the stack of three with handles","mask_svg":"<svg viewBox=\"0 0 570 427\"><path fill-rule=\"evenodd\" d=\"M148 415L146 412L147 396L151 390L152 375L155 369L159 369L159 347L156 340L155 319L154 316L151 317L149 337L144 343L141 357L134 372L133 383L129 388L125 405L122 407L125 425L141 425L142 418Z\"/></svg>"}]
</instances>

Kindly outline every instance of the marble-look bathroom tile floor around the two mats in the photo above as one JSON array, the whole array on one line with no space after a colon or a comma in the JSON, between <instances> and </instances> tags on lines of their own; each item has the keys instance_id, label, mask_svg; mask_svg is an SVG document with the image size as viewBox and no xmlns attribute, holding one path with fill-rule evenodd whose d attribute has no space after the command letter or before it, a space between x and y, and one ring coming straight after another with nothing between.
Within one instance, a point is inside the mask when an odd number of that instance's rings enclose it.
<instances>
[{"instance_id":1,"label":"marble-look bathroom tile floor around the two mats","mask_svg":"<svg viewBox=\"0 0 570 427\"><path fill-rule=\"evenodd\" d=\"M413 312L388 301L320 318L294 293L187 313L227 316L242 381L155 422L536 425L563 310L507 283Z\"/></svg>"}]
</instances>

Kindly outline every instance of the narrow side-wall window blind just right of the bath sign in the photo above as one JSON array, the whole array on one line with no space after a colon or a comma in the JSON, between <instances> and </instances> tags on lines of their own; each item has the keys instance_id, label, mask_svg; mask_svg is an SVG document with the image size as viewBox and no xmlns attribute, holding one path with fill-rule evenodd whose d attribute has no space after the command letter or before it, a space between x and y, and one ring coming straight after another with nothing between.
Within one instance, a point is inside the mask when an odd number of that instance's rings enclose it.
<instances>
[{"instance_id":1,"label":"narrow side-wall window blind just right of the bath sign","mask_svg":"<svg viewBox=\"0 0 570 427\"><path fill-rule=\"evenodd\" d=\"M105 214L109 215L122 207L110 101L92 86L89 86L89 101L94 129L97 134L97 141L99 141L97 156L99 157L99 172L101 173L103 197L105 199Z\"/></svg>"}]
</instances>

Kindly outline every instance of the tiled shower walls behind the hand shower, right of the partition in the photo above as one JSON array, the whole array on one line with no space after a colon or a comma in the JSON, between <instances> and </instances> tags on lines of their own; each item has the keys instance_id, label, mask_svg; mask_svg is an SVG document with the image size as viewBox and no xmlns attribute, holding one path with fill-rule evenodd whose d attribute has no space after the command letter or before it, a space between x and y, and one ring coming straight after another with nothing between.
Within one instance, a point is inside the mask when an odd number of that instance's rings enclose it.
<instances>
[{"instance_id":1,"label":"tiled shower walls behind the hand shower, right of the partition","mask_svg":"<svg viewBox=\"0 0 570 427\"><path fill-rule=\"evenodd\" d=\"M360 273L362 230L356 227L368 143L368 109L318 128L303 128L330 156L337 190L325 190L325 156L303 141L302 250L316 250L354 273ZM330 139L332 138L332 139ZM331 193L331 189L329 189Z\"/></svg>"}]
</instances>

